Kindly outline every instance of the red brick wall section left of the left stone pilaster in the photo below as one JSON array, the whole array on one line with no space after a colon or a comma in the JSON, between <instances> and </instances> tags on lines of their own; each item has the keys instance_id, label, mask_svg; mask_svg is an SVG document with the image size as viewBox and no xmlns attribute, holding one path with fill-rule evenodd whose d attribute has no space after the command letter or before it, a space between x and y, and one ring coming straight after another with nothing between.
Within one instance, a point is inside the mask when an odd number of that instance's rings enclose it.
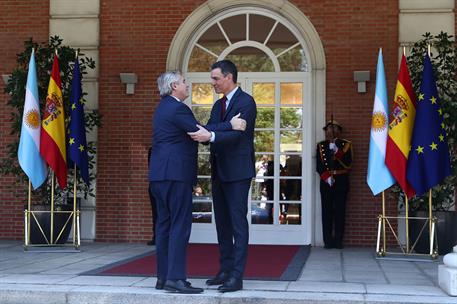
<instances>
[{"instance_id":1,"label":"red brick wall section left of the left stone pilaster","mask_svg":"<svg viewBox=\"0 0 457 304\"><path fill-rule=\"evenodd\" d=\"M49 1L0 1L0 75L11 74L16 66L16 54L22 52L23 42L33 37L46 41L49 33ZM0 79L0 159L6 156L10 136L10 112L3 94L5 84ZM26 189L13 186L14 177L0 176L0 239L20 239L23 236L23 206Z\"/></svg>"}]
</instances>

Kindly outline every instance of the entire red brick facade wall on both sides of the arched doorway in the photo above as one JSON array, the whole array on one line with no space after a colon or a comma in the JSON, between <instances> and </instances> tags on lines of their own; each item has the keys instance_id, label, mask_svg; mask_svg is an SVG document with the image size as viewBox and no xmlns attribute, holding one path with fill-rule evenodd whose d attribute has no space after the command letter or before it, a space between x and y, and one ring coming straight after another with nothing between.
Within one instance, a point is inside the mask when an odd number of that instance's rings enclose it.
<instances>
[{"instance_id":1,"label":"entire red brick facade wall on both sides of the arched doorway","mask_svg":"<svg viewBox=\"0 0 457 304\"><path fill-rule=\"evenodd\" d=\"M147 196L147 149L151 116L157 104L155 80L165 69L171 40L185 18L203 0L101 1L97 240L144 242L151 237ZM327 117L333 113L354 143L352 191L348 198L347 244L374 244L380 198L366 185L369 126L375 90L378 48L383 47L388 93L398 69L398 2L391 0L293 0L310 18L326 55ZM48 1L1 1L0 74L9 73L22 42L47 39ZM456 24L457 27L457 24ZM367 93L358 94L353 71L370 70ZM134 95L126 95L119 73L135 72ZM0 90L3 90L0 82ZM7 96L0 94L0 157L9 142ZM22 237L21 194L1 176L0 238ZM388 211L395 211L389 202Z\"/></svg>"}]
</instances>

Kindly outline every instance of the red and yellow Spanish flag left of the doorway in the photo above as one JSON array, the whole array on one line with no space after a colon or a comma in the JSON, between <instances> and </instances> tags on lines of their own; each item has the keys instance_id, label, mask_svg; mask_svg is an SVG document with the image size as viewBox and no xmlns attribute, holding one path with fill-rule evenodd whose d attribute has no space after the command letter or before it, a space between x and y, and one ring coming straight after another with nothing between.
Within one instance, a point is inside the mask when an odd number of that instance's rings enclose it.
<instances>
[{"instance_id":1,"label":"red and yellow Spanish flag left of the doorway","mask_svg":"<svg viewBox=\"0 0 457 304\"><path fill-rule=\"evenodd\" d=\"M59 59L54 55L48 96L41 122L40 153L54 171L60 188L67 186L65 115L62 100Z\"/></svg>"}]
</instances>

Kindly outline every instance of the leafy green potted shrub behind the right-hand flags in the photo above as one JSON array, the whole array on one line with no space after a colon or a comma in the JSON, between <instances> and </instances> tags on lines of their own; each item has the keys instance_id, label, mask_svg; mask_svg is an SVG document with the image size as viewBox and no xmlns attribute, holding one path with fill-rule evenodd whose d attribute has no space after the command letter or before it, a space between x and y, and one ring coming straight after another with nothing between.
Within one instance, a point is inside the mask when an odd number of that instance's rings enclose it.
<instances>
[{"instance_id":1,"label":"leafy green potted shrub behind the right-hand flags","mask_svg":"<svg viewBox=\"0 0 457 304\"><path fill-rule=\"evenodd\" d=\"M433 215L437 217L436 233L439 254L446 254L457 244L457 212L455 210L457 183L457 44L452 36L441 32L438 35L426 33L423 39L414 43L408 56L408 67L416 92L422 81L423 58L427 45L431 45L430 59L443 109L443 117L451 160L451 175L432 189ZM402 194L402 193L401 193ZM404 200L404 198L402 198ZM410 215L428 217L428 194L413 197L409 201ZM414 242L423 227L423 222L410 220L411 242ZM425 226L415 251L429 253L429 229ZM411 244L413 245L413 244Z\"/></svg>"}]
</instances>

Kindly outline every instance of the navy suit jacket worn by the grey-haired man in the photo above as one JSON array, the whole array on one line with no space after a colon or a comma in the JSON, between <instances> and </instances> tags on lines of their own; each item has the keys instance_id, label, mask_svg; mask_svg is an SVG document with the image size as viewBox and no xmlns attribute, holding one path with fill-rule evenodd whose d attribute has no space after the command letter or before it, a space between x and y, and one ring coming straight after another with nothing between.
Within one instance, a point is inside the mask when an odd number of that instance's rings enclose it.
<instances>
[{"instance_id":1,"label":"navy suit jacket worn by the grey-haired man","mask_svg":"<svg viewBox=\"0 0 457 304\"><path fill-rule=\"evenodd\" d=\"M149 181L197 182L198 143L187 132L197 131L192 111L172 96L163 97L153 117ZM207 126L211 131L231 130L230 122Z\"/></svg>"}]
</instances>

